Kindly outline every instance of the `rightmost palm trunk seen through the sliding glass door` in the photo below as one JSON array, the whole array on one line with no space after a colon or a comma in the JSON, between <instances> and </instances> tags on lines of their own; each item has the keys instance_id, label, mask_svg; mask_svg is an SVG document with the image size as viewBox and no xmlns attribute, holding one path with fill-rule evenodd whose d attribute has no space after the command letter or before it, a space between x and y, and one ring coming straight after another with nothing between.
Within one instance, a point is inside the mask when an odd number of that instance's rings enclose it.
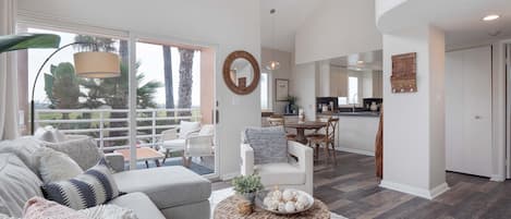
<instances>
[{"instance_id":1,"label":"rightmost palm trunk seen through the sliding glass door","mask_svg":"<svg viewBox=\"0 0 511 219\"><path fill-rule=\"evenodd\" d=\"M193 85L193 58L195 50L192 49L179 49L181 63L179 69L179 101L178 107L180 109L192 108L192 85ZM192 112L181 112L181 115L192 115Z\"/></svg>"}]
</instances>

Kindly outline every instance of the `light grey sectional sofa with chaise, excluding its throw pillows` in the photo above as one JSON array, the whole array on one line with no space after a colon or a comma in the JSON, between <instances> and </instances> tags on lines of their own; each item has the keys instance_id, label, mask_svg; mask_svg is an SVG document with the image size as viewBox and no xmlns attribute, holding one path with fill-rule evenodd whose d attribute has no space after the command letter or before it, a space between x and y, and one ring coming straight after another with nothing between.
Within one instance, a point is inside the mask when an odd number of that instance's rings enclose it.
<instances>
[{"instance_id":1,"label":"light grey sectional sofa with chaise, excluding its throw pillows","mask_svg":"<svg viewBox=\"0 0 511 219\"><path fill-rule=\"evenodd\" d=\"M33 137L0 142L0 218L21 217L28 198L42 196L42 181L32 159L42 145ZM119 191L126 193L109 204L132 209L139 219L209 218L211 184L207 179L183 167L121 171L122 156L106 157L118 171L113 178Z\"/></svg>"}]
</instances>

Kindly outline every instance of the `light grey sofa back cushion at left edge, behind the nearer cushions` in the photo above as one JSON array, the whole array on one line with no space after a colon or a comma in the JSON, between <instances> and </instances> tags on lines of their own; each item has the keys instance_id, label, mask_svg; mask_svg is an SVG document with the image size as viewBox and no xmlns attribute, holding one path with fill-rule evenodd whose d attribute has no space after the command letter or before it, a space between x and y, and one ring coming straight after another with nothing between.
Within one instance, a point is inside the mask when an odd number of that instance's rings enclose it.
<instances>
[{"instance_id":1,"label":"light grey sofa back cushion at left edge, behind the nearer cushions","mask_svg":"<svg viewBox=\"0 0 511 219\"><path fill-rule=\"evenodd\" d=\"M33 158L33 155L39 147L39 142L34 137L21 137L13 141L0 142L0 154L16 155L25 163L25 166L37 175L38 163Z\"/></svg>"}]
</instances>

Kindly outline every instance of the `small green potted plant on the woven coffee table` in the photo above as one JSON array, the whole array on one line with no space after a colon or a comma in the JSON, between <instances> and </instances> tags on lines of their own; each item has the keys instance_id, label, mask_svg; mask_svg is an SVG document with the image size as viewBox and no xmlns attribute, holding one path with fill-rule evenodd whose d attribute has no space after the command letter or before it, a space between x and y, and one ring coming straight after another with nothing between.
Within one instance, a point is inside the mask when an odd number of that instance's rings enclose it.
<instances>
[{"instance_id":1,"label":"small green potted plant on the woven coffee table","mask_svg":"<svg viewBox=\"0 0 511 219\"><path fill-rule=\"evenodd\" d=\"M258 174L242 175L232 180L234 191L242 195L246 200L254 204L257 192L265 188Z\"/></svg>"}]
</instances>

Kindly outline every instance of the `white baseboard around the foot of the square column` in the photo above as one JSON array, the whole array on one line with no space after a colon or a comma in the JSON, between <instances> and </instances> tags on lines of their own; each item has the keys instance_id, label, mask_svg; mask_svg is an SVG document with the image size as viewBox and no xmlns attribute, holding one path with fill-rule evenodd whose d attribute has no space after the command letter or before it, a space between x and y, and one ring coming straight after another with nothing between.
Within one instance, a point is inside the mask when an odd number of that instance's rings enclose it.
<instances>
[{"instance_id":1,"label":"white baseboard around the foot of the square column","mask_svg":"<svg viewBox=\"0 0 511 219\"><path fill-rule=\"evenodd\" d=\"M433 199L449 190L449 186L447 185L447 183L442 183L431 190L424 190L421 187L389 182L386 180L382 180L379 186L393 190L393 191L398 191L398 192L402 192L402 193L407 193L407 194L415 195L418 197L424 197L426 199Z\"/></svg>"}]
</instances>

